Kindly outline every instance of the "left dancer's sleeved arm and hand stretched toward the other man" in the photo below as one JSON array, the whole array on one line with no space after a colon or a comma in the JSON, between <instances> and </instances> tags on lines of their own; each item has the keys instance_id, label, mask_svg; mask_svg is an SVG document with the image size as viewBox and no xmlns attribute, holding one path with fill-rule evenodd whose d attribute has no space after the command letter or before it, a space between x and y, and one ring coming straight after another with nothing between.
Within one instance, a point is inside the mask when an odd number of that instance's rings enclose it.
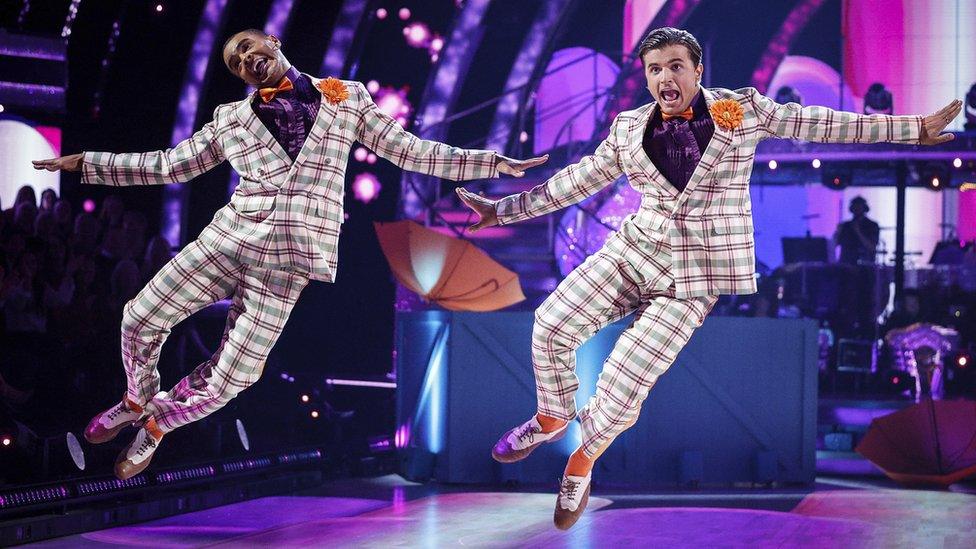
<instances>
[{"instance_id":1,"label":"left dancer's sleeved arm and hand stretched toward the other man","mask_svg":"<svg viewBox=\"0 0 976 549\"><path fill-rule=\"evenodd\" d=\"M525 170L547 160L547 157L514 160L494 151L461 149L421 139L404 130L396 120L380 110L365 86L356 82L354 87L361 105L356 138L379 156L405 170L466 181L498 177L499 173L522 177Z\"/></svg>"}]
</instances>

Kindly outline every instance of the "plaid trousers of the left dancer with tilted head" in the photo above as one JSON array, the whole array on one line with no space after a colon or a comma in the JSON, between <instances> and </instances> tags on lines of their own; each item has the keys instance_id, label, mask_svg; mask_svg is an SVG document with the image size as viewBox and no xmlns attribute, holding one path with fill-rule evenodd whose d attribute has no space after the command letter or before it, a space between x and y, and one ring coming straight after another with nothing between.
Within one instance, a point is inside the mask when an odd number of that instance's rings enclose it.
<instances>
[{"instance_id":1,"label":"plaid trousers of the left dancer with tilted head","mask_svg":"<svg viewBox=\"0 0 976 549\"><path fill-rule=\"evenodd\" d=\"M169 261L122 319L127 396L144 405L163 431L203 418L261 377L264 361L308 283L304 275L252 267L199 240ZM194 312L233 296L214 355L168 393L156 364L170 330Z\"/></svg>"}]
</instances>

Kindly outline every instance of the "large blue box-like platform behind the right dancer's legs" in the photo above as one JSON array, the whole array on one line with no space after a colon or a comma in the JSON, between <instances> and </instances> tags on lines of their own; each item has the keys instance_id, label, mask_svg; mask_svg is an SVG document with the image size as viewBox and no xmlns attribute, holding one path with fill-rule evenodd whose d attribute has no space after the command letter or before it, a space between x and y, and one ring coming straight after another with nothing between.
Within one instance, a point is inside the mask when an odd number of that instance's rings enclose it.
<instances>
[{"instance_id":1,"label":"large blue box-like platform behind the right dancer's legs","mask_svg":"<svg viewBox=\"0 0 976 549\"><path fill-rule=\"evenodd\" d=\"M577 407L630 318L577 351ZM400 472L413 480L500 484L558 477L580 440L541 459L499 465L498 436L536 410L533 313L397 314ZM817 325L812 320L709 317L644 402L640 420L603 455L620 487L811 483L816 475Z\"/></svg>"}]
</instances>

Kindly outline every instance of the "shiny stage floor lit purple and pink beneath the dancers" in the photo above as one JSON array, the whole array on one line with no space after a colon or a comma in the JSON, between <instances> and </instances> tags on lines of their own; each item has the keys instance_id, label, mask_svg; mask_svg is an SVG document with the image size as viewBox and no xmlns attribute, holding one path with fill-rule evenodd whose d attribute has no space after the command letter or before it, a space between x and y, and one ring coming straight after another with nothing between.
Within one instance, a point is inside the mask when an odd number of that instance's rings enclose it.
<instances>
[{"instance_id":1,"label":"shiny stage floor lit purple and pink beneath the dancers","mask_svg":"<svg viewBox=\"0 0 976 549\"><path fill-rule=\"evenodd\" d=\"M32 547L966 547L976 490L906 490L819 479L812 491L597 490L568 532L555 496L421 486L389 476L333 482Z\"/></svg>"}]
</instances>

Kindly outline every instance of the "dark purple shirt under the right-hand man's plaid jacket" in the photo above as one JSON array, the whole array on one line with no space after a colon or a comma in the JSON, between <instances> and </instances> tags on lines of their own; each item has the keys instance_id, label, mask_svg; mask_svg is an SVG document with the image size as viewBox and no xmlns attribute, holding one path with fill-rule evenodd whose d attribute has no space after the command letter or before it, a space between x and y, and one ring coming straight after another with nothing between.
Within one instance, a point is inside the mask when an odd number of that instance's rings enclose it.
<instances>
[{"instance_id":1,"label":"dark purple shirt under the right-hand man's plaid jacket","mask_svg":"<svg viewBox=\"0 0 976 549\"><path fill-rule=\"evenodd\" d=\"M702 151L715 133L715 124L701 90L691 102L691 110L691 120L672 118L665 122L661 109L655 109L654 118L644 131L644 152L678 192L683 191L691 180Z\"/></svg>"}]
</instances>

